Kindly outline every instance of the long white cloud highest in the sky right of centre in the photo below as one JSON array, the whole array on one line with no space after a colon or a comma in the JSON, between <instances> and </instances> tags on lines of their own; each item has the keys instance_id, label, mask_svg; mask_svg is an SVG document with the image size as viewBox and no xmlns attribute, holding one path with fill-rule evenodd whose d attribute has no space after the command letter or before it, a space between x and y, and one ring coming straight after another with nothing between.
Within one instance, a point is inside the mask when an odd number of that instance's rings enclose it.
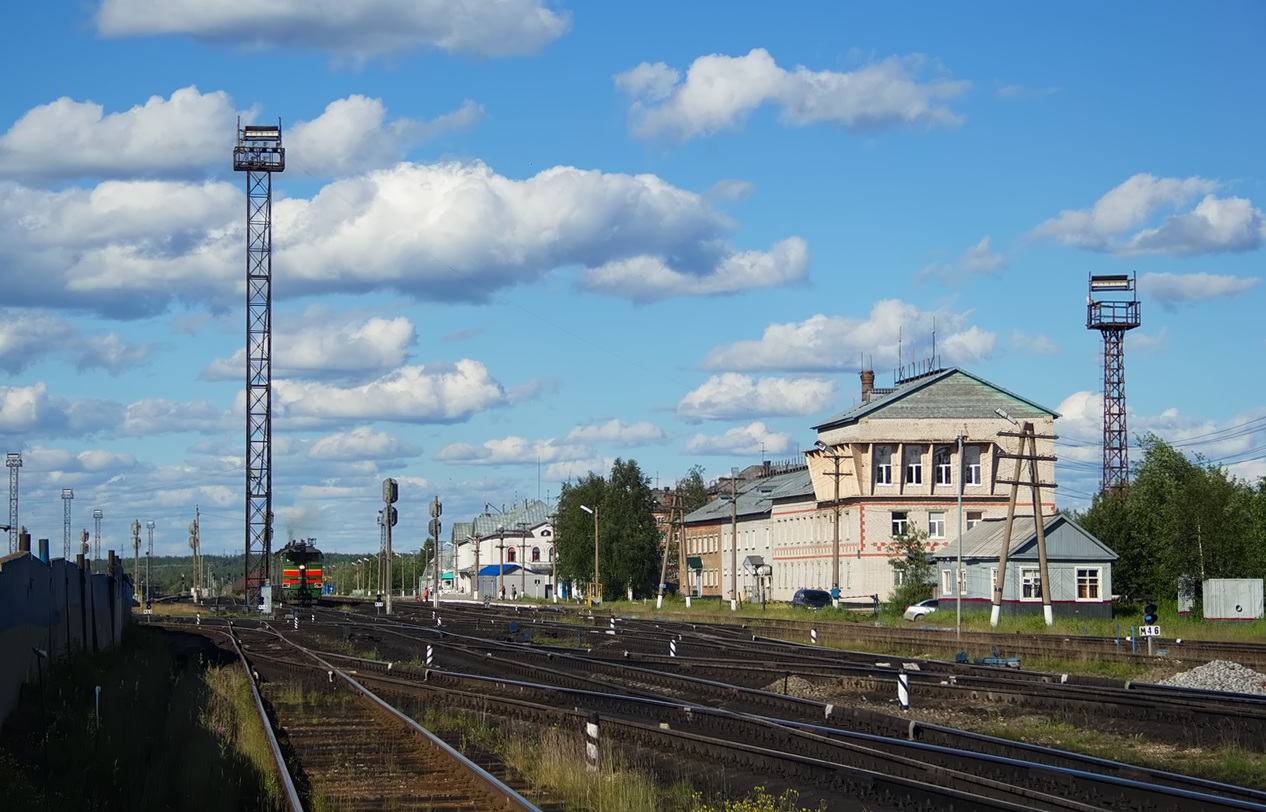
<instances>
[{"instance_id":1,"label":"long white cloud highest in the sky right of centre","mask_svg":"<svg viewBox=\"0 0 1266 812\"><path fill-rule=\"evenodd\" d=\"M967 82L920 80L934 68L922 56L890 57L856 71L779 67L763 48L746 56L699 57L681 75L662 62L643 62L618 73L615 85L630 99L632 130L641 137L687 141L737 129L762 105L776 106L785 124L830 123L852 132L894 127L953 127L961 117L943 101Z\"/></svg>"}]
</instances>

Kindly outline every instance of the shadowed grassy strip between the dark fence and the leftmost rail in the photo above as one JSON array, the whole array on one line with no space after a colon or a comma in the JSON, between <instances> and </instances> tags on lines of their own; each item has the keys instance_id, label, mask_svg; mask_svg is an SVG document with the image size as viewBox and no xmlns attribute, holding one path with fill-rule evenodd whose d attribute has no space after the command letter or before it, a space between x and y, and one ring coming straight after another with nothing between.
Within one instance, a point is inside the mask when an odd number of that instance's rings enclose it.
<instances>
[{"instance_id":1,"label":"shadowed grassy strip between the dark fence and the leftmost rail","mask_svg":"<svg viewBox=\"0 0 1266 812\"><path fill-rule=\"evenodd\" d=\"M128 626L25 685L0 746L4 808L282 808L242 666L190 651Z\"/></svg>"}]
</instances>

